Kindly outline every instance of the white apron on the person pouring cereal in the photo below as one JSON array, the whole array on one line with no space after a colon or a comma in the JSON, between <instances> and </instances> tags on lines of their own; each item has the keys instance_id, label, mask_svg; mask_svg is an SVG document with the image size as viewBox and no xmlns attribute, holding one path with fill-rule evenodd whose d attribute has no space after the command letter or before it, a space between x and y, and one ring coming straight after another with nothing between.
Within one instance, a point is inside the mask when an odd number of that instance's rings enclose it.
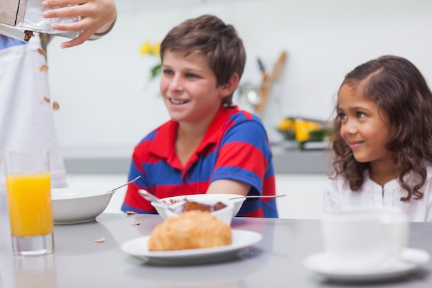
<instances>
[{"instance_id":1,"label":"white apron on the person pouring cereal","mask_svg":"<svg viewBox=\"0 0 432 288\"><path fill-rule=\"evenodd\" d=\"M48 150L51 188L65 187L52 103L48 102L46 57L38 52L39 35L28 43L0 50L0 213L6 211L5 151Z\"/></svg>"}]
</instances>

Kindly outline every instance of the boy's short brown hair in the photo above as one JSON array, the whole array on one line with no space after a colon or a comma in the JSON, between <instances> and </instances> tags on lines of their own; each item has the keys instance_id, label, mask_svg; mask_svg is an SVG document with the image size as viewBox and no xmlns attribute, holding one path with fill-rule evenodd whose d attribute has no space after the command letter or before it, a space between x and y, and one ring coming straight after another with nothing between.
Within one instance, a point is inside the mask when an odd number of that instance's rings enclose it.
<instances>
[{"instance_id":1,"label":"boy's short brown hair","mask_svg":"<svg viewBox=\"0 0 432 288\"><path fill-rule=\"evenodd\" d=\"M216 75L217 87L228 83L233 73L241 78L246 63L243 41L235 28L212 15L188 19L171 29L161 42L162 61L167 50L204 55ZM231 106L232 101L233 93L222 104Z\"/></svg>"}]
</instances>

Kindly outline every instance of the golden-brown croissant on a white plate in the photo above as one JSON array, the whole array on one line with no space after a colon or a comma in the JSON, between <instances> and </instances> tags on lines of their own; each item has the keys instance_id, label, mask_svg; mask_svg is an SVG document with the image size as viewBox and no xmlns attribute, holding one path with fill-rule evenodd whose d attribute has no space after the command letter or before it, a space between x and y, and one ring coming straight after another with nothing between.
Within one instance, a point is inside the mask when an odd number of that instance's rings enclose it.
<instances>
[{"instance_id":1,"label":"golden-brown croissant on a white plate","mask_svg":"<svg viewBox=\"0 0 432 288\"><path fill-rule=\"evenodd\" d=\"M149 251L217 247L231 244L231 228L208 211L187 211L157 224Z\"/></svg>"}]
</instances>

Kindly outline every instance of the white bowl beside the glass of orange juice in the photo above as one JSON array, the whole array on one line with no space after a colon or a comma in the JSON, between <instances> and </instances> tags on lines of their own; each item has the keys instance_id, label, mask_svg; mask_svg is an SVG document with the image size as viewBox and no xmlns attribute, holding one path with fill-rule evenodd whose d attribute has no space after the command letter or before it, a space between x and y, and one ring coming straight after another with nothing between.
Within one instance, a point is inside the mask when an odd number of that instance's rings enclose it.
<instances>
[{"instance_id":1,"label":"white bowl beside the glass of orange juice","mask_svg":"<svg viewBox=\"0 0 432 288\"><path fill-rule=\"evenodd\" d=\"M112 192L100 187L51 189L54 224L75 224L95 220L111 200Z\"/></svg>"}]
</instances>

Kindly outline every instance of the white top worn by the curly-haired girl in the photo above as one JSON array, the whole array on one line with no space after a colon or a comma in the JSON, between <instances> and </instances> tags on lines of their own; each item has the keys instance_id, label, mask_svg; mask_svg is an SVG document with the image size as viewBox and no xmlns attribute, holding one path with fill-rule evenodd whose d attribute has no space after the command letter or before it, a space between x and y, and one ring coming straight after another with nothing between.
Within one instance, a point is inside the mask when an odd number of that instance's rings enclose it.
<instances>
[{"instance_id":1,"label":"white top worn by the curly-haired girl","mask_svg":"<svg viewBox=\"0 0 432 288\"><path fill-rule=\"evenodd\" d=\"M387 182L384 187L373 182L366 173L362 188L351 191L349 183L342 176L328 182L324 191L324 211L340 210L349 207L395 207L404 213L411 222L432 222L432 168L427 166L427 176L424 186L420 189L423 198L415 200L411 197L409 202L402 202L400 198L406 197L407 192L402 189L399 182L394 179ZM412 183L413 175L407 175L408 183ZM411 185L410 185L411 186Z\"/></svg>"}]
</instances>

